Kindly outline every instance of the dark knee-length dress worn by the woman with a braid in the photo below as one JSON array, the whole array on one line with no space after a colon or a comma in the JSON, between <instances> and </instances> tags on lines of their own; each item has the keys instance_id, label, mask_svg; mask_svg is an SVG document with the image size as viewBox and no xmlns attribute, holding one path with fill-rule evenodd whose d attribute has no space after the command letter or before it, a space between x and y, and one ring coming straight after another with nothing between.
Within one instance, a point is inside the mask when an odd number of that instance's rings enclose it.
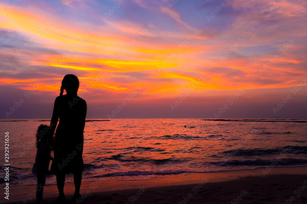
<instances>
[{"instance_id":1,"label":"dark knee-length dress worn by the woman with a braid","mask_svg":"<svg viewBox=\"0 0 307 204\"><path fill-rule=\"evenodd\" d=\"M70 173L84 170L82 159L86 102L77 95L56 98L54 114L60 121L56 128L54 160L51 171Z\"/></svg>"}]
</instances>

